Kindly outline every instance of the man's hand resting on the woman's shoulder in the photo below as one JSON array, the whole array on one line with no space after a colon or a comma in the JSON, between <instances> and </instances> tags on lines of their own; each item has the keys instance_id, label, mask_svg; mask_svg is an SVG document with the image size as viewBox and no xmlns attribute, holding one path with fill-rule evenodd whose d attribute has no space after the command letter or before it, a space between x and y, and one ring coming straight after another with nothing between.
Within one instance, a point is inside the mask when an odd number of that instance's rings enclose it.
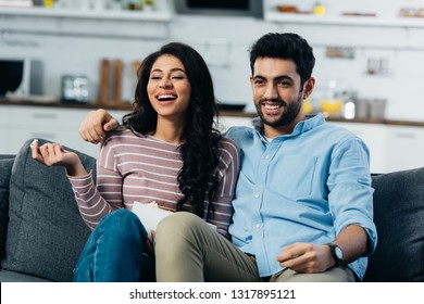
<instances>
[{"instance_id":1,"label":"man's hand resting on the woman's shoulder","mask_svg":"<svg viewBox=\"0 0 424 304\"><path fill-rule=\"evenodd\" d=\"M79 135L85 141L99 143L105 132L117 128L120 123L103 109L91 111L79 126Z\"/></svg>"}]
</instances>

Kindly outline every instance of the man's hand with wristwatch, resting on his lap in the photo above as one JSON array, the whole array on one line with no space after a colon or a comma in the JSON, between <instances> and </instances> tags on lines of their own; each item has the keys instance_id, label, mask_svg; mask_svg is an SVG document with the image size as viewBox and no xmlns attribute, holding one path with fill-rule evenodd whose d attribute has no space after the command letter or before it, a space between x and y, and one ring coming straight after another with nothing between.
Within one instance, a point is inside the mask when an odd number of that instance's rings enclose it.
<instances>
[{"instance_id":1,"label":"man's hand with wristwatch, resting on his lap","mask_svg":"<svg viewBox=\"0 0 424 304\"><path fill-rule=\"evenodd\" d=\"M280 266L300 274L323 273L335 263L328 245L311 243L295 243L284 248L277 261Z\"/></svg>"}]
</instances>

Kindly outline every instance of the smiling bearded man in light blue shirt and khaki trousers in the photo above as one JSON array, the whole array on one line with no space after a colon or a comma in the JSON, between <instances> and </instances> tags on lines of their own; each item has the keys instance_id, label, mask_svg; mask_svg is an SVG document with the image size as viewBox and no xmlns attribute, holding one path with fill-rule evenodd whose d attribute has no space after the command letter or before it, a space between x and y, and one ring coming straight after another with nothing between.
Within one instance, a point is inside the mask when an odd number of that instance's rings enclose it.
<instances>
[{"instance_id":1,"label":"smiling bearded man in light blue shirt and khaki trousers","mask_svg":"<svg viewBox=\"0 0 424 304\"><path fill-rule=\"evenodd\" d=\"M253 43L251 85L260 121L226 134L241 152L233 243L190 214L167 217L155 235L159 281L363 278L377 240L369 151L322 114L302 113L315 85L314 63L312 48L296 34L267 34ZM111 117L104 111L90 116L82 135L96 141Z\"/></svg>"}]
</instances>

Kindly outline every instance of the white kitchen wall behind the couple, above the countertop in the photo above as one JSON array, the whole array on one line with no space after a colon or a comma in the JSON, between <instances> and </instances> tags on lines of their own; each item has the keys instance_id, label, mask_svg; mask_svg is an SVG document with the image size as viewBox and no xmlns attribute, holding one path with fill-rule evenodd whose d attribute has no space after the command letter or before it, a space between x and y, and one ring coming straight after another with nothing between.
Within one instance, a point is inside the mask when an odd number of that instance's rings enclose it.
<instances>
[{"instance_id":1,"label":"white kitchen wall behind the couple, above the countertop","mask_svg":"<svg viewBox=\"0 0 424 304\"><path fill-rule=\"evenodd\" d=\"M273 8L275 3L301 3L308 7L313 2L271 0L265 1L265 8ZM407 0L322 2L331 15L341 11L362 11L377 12L378 16L396 16L400 7L424 7L424 1ZM121 29L113 33L114 26ZM387 118L424 118L424 98L421 92L424 79L424 28L285 24L249 17L187 15L175 16L166 24L128 22L126 26L128 35L122 35L122 23L0 17L0 56L40 59L45 65L47 94L60 94L62 75L83 73L91 80L92 99L97 98L99 61L102 58L122 59L125 64L123 98L132 99L134 75L130 62L141 60L166 41L180 40L191 43L204 55L220 100L246 103L247 110L253 111L248 48L265 33L296 31L314 47L317 59L314 71L317 79L316 98L324 91L327 81L335 79L340 86L358 91L361 97L386 98ZM328 46L351 47L354 49L354 59L328 59L325 55ZM382 76L367 75L366 64L371 56L387 59L389 73Z\"/></svg>"}]
</instances>

